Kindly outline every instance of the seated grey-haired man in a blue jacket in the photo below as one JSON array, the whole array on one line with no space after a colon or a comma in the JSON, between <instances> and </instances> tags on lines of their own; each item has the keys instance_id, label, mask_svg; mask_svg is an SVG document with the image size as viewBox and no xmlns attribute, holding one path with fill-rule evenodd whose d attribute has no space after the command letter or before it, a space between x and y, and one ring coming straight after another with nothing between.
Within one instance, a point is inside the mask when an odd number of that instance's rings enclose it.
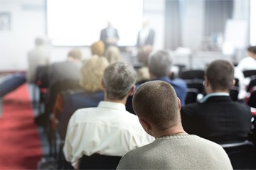
<instances>
[{"instance_id":1,"label":"seated grey-haired man in a blue jacket","mask_svg":"<svg viewBox=\"0 0 256 170\"><path fill-rule=\"evenodd\" d=\"M185 105L187 94L186 82L182 79L171 80L171 66L173 59L166 50L152 52L149 55L149 73L151 80L162 80L174 86L178 98L181 100L181 106Z\"/></svg>"}]
</instances>

